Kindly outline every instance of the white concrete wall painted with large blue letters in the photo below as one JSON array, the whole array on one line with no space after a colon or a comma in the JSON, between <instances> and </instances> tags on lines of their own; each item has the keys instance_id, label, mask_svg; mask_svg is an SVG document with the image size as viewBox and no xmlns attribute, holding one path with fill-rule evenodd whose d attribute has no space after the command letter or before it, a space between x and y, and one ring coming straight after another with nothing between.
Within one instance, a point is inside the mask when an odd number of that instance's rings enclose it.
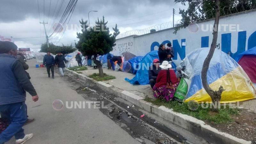
<instances>
[{"instance_id":1,"label":"white concrete wall painted with large blue letters","mask_svg":"<svg viewBox=\"0 0 256 144\"><path fill-rule=\"evenodd\" d=\"M236 13L230 16L224 16L220 19L220 27L218 33L217 48L228 53L231 52L231 56L234 58L237 54L256 46L256 11L248 11ZM172 42L176 56L173 58L175 63L180 61L185 54L204 47L208 43L209 47L212 43L212 28L214 20L207 20L197 23L199 29L196 33L189 31L189 28L182 28L177 32L177 35L173 34L174 29L166 29L157 31L141 36L128 36L125 38L117 39L116 46L113 47L111 52L114 55L121 55L123 52L131 52L137 56L144 56L152 50L158 50L159 44L166 43L166 41ZM238 39L239 33L239 39ZM254 34L253 34L254 33ZM252 35L252 36L251 36ZM209 36L202 40L202 37ZM248 39L250 38L250 44L248 45ZM182 43L183 46L182 46ZM201 42L203 41L203 45ZM152 48L151 48L152 47ZM231 50L229 50L229 47ZM238 52L237 52L238 51ZM234 53L234 54L233 54Z\"/></svg>"}]
</instances>

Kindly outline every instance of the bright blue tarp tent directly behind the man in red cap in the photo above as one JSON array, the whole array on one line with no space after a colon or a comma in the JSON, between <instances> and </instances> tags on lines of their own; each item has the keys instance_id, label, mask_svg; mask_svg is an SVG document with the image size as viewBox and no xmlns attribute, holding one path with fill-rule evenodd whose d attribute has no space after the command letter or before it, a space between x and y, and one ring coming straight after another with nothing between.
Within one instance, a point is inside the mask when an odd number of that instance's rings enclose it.
<instances>
[{"instance_id":1,"label":"bright blue tarp tent directly behind the man in red cap","mask_svg":"<svg viewBox=\"0 0 256 144\"><path fill-rule=\"evenodd\" d=\"M138 63L138 69L136 75L130 80L127 77L124 79L130 84L140 84L146 85L149 84L148 79L148 69L153 63L154 59L158 58L158 51L151 51L146 54L143 59ZM176 65L172 62L172 68L176 68Z\"/></svg>"}]
</instances>

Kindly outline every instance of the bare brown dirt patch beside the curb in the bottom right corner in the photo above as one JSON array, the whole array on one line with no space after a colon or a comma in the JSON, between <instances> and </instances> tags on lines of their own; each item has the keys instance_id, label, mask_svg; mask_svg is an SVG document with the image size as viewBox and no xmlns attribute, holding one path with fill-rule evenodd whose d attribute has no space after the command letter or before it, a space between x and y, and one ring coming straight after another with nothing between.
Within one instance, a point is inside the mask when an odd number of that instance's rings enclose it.
<instances>
[{"instance_id":1,"label":"bare brown dirt patch beside the curb in the bottom right corner","mask_svg":"<svg viewBox=\"0 0 256 144\"><path fill-rule=\"evenodd\" d=\"M205 121L205 123L221 132L226 132L256 144L256 113L241 109L239 115L232 117L232 119L234 122L229 124L212 124L208 121Z\"/></svg>"}]
</instances>

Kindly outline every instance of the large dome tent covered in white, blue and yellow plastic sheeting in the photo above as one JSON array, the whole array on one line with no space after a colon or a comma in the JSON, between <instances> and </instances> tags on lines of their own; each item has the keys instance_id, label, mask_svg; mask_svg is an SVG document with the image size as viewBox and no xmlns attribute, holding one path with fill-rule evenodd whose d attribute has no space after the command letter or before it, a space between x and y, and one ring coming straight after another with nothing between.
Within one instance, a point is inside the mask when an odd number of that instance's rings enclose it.
<instances>
[{"instance_id":1,"label":"large dome tent covered in white, blue and yellow plastic sheeting","mask_svg":"<svg viewBox=\"0 0 256 144\"><path fill-rule=\"evenodd\" d=\"M190 52L185 58L185 64L190 70L191 85L185 102L211 102L210 96L205 92L201 71L209 48L200 48ZM221 103L236 102L254 99L255 88L250 83L249 77L238 63L225 52L215 49L207 72L207 81L212 90L218 90L220 85L225 89L221 94Z\"/></svg>"}]
</instances>

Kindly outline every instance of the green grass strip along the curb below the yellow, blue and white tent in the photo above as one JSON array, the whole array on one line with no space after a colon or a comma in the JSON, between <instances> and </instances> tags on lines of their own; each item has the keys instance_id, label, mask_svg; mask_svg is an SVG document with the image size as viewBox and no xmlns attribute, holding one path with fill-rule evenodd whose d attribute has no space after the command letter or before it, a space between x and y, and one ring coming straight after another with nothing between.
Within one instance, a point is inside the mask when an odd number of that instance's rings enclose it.
<instances>
[{"instance_id":1,"label":"green grass strip along the curb below the yellow, blue and white tent","mask_svg":"<svg viewBox=\"0 0 256 144\"><path fill-rule=\"evenodd\" d=\"M208 108L203 108L206 107L206 103L204 103L203 107L201 104L199 104L199 107L195 111L192 111L188 108L188 103L179 103L178 101L167 102L163 99L153 100L148 97L146 97L144 100L151 102L157 106L165 106L167 108L172 108L173 111L175 112L185 114L188 116L193 116L203 121L209 121L213 124L227 124L233 122L231 115L238 115L239 112L237 108L229 108L228 105L226 105L226 108L224 108L224 106L222 105L221 108L219 109L219 113L213 113L211 111L210 106Z\"/></svg>"}]
</instances>

